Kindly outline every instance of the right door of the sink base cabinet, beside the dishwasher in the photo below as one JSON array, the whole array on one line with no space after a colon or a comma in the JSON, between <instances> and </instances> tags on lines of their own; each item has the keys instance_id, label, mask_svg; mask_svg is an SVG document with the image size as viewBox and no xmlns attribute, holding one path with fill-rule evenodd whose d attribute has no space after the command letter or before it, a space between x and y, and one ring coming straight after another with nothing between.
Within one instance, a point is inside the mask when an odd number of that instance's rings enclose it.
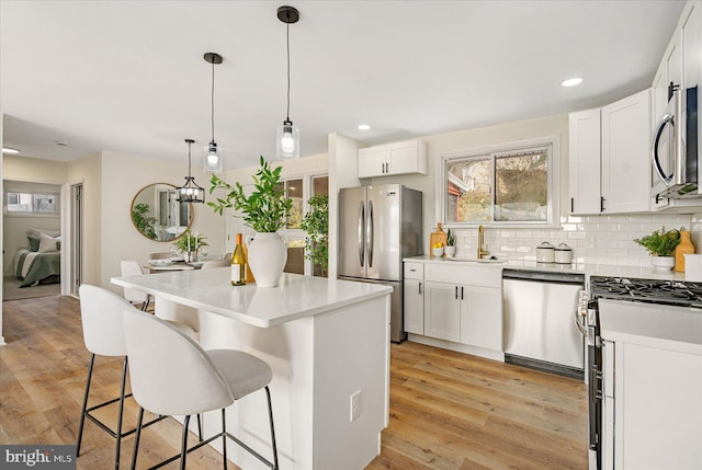
<instances>
[{"instance_id":1,"label":"right door of the sink base cabinet, beside the dishwasher","mask_svg":"<svg viewBox=\"0 0 702 470\"><path fill-rule=\"evenodd\" d=\"M502 351L501 289L461 286L461 343Z\"/></svg>"}]
</instances>

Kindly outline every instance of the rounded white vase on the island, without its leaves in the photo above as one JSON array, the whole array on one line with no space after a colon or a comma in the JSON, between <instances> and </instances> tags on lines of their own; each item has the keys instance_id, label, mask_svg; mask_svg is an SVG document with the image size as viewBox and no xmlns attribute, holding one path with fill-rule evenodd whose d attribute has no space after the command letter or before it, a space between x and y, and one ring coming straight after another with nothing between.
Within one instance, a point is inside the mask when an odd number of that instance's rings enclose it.
<instances>
[{"instance_id":1,"label":"rounded white vase on the island, without its leaves","mask_svg":"<svg viewBox=\"0 0 702 470\"><path fill-rule=\"evenodd\" d=\"M287 247L275 232L247 237L249 267L258 287L278 287L287 261Z\"/></svg>"}]
</instances>

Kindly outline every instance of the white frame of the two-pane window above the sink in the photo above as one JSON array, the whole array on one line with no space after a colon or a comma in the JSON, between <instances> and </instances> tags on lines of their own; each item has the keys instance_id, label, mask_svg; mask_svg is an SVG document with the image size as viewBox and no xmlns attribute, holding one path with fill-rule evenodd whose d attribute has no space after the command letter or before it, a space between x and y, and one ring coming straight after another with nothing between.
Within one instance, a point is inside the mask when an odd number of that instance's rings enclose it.
<instances>
[{"instance_id":1,"label":"white frame of the two-pane window above the sink","mask_svg":"<svg viewBox=\"0 0 702 470\"><path fill-rule=\"evenodd\" d=\"M529 151L537 148L547 149L547 210L546 220L509 220L499 221L495 220L495 160L498 157L510 156L519 153L520 151ZM452 160L463 160L471 158L488 158L490 159L490 176L492 179L491 184L491 220L475 220L465 222L455 222L446 220L448 208L448 175L446 163ZM446 152L441 158L437 159L437 191L435 191L435 210L442 226L446 228L455 229L468 229L476 228L478 226L492 227L492 228L558 228L559 227L559 214L561 214L561 139L558 136L537 137L533 139L514 140L503 144L495 144L485 147L476 147L464 150L455 150Z\"/></svg>"}]
</instances>

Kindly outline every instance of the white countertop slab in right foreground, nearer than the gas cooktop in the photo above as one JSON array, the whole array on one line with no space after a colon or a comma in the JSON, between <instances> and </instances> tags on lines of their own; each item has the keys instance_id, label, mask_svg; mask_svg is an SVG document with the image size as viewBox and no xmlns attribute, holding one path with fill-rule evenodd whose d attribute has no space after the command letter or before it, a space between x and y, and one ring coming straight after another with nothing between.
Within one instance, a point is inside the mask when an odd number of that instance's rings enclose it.
<instances>
[{"instance_id":1,"label":"white countertop slab in right foreground, nearer than the gas cooktop","mask_svg":"<svg viewBox=\"0 0 702 470\"><path fill-rule=\"evenodd\" d=\"M702 309L599 299L604 340L702 355Z\"/></svg>"}]
</instances>

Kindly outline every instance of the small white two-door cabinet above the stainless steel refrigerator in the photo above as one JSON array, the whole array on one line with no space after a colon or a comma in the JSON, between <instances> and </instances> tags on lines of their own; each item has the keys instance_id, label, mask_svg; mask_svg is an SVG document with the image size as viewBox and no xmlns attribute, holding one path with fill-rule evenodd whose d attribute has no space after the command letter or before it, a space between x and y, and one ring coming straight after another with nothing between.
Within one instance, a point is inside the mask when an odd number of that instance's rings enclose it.
<instances>
[{"instance_id":1,"label":"small white two-door cabinet above the stainless steel refrigerator","mask_svg":"<svg viewBox=\"0 0 702 470\"><path fill-rule=\"evenodd\" d=\"M359 177L427 174L427 144L406 140L359 150Z\"/></svg>"}]
</instances>

